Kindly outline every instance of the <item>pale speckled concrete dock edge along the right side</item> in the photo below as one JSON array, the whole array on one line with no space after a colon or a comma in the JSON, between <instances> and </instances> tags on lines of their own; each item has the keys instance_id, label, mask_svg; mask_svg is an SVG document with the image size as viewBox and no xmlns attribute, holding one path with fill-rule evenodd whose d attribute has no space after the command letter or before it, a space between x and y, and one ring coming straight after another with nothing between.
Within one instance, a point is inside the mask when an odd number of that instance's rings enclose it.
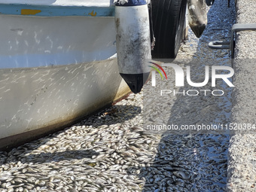
<instances>
[{"instance_id":1,"label":"pale speckled concrete dock edge along the right side","mask_svg":"<svg viewBox=\"0 0 256 192\"><path fill-rule=\"evenodd\" d=\"M236 23L256 23L254 0L238 0ZM256 191L256 31L237 32L231 123L250 126L236 130L230 139L228 191Z\"/></svg>"}]
</instances>

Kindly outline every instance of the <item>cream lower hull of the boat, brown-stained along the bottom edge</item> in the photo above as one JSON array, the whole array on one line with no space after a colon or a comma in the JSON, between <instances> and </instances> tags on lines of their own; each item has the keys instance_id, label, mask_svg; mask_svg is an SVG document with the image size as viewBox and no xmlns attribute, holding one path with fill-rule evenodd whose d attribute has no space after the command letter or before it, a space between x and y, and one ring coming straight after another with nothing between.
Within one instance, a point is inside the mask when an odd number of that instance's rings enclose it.
<instances>
[{"instance_id":1,"label":"cream lower hull of the boat, brown-stained along the bottom edge","mask_svg":"<svg viewBox=\"0 0 256 192\"><path fill-rule=\"evenodd\" d=\"M117 59L1 69L0 90L1 148L59 130L130 93Z\"/></svg>"}]
</instances>

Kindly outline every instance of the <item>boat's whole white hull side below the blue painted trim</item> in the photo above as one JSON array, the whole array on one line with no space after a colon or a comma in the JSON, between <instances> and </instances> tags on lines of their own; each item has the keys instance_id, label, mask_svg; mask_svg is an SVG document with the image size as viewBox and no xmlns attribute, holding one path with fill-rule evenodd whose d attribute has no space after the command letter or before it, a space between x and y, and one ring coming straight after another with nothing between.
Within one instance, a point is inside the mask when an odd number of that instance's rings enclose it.
<instances>
[{"instance_id":1,"label":"boat's whole white hull side below the blue painted trim","mask_svg":"<svg viewBox=\"0 0 256 192\"><path fill-rule=\"evenodd\" d=\"M59 130L130 93L114 58L114 17L90 13L0 15L1 149Z\"/></svg>"}]
</instances>

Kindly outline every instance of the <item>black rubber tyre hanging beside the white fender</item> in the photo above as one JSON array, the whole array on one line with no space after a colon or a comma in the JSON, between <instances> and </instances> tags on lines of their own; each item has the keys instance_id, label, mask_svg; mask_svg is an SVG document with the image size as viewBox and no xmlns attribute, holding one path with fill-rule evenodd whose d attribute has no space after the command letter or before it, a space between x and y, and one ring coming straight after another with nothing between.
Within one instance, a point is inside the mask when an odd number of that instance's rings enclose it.
<instances>
[{"instance_id":1,"label":"black rubber tyre hanging beside the white fender","mask_svg":"<svg viewBox=\"0 0 256 192\"><path fill-rule=\"evenodd\" d=\"M175 59L181 46L187 0L151 0L152 59ZM152 32L153 31L153 32Z\"/></svg>"}]
</instances>

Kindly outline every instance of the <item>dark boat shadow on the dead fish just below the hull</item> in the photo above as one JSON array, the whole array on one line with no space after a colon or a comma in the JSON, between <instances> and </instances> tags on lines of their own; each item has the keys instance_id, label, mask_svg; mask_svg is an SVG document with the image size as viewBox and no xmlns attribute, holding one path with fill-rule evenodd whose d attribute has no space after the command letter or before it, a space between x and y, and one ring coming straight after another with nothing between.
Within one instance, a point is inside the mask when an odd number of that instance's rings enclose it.
<instances>
[{"instance_id":1,"label":"dark boat shadow on the dead fish just below the hull","mask_svg":"<svg viewBox=\"0 0 256 192\"><path fill-rule=\"evenodd\" d=\"M99 127L102 125L111 125L116 123L123 123L125 120L130 120L136 117L142 112L142 108L133 105L112 105L110 108L105 108L96 114L90 115L84 120L79 121L75 126L94 126ZM5 163L17 163L21 162L59 162L62 160L91 160L93 156L98 156L99 153L93 150L77 150L77 151L62 151L46 153L44 148L50 147L47 144L51 139L64 134L66 131L72 129L72 126L67 127L64 130L60 130L57 133L52 133L44 138L25 143L17 148L12 148L9 151L0 151L0 166ZM78 128L79 129L79 128ZM25 150L25 151L24 151ZM64 150L64 149L63 149ZM24 154L20 154L20 151L24 151ZM41 151L41 152L40 152ZM47 150L46 150L47 151ZM54 151L54 150L53 150ZM32 154L31 154L32 153ZM33 154L35 153L35 154ZM29 155L26 155L29 154Z\"/></svg>"}]
</instances>

